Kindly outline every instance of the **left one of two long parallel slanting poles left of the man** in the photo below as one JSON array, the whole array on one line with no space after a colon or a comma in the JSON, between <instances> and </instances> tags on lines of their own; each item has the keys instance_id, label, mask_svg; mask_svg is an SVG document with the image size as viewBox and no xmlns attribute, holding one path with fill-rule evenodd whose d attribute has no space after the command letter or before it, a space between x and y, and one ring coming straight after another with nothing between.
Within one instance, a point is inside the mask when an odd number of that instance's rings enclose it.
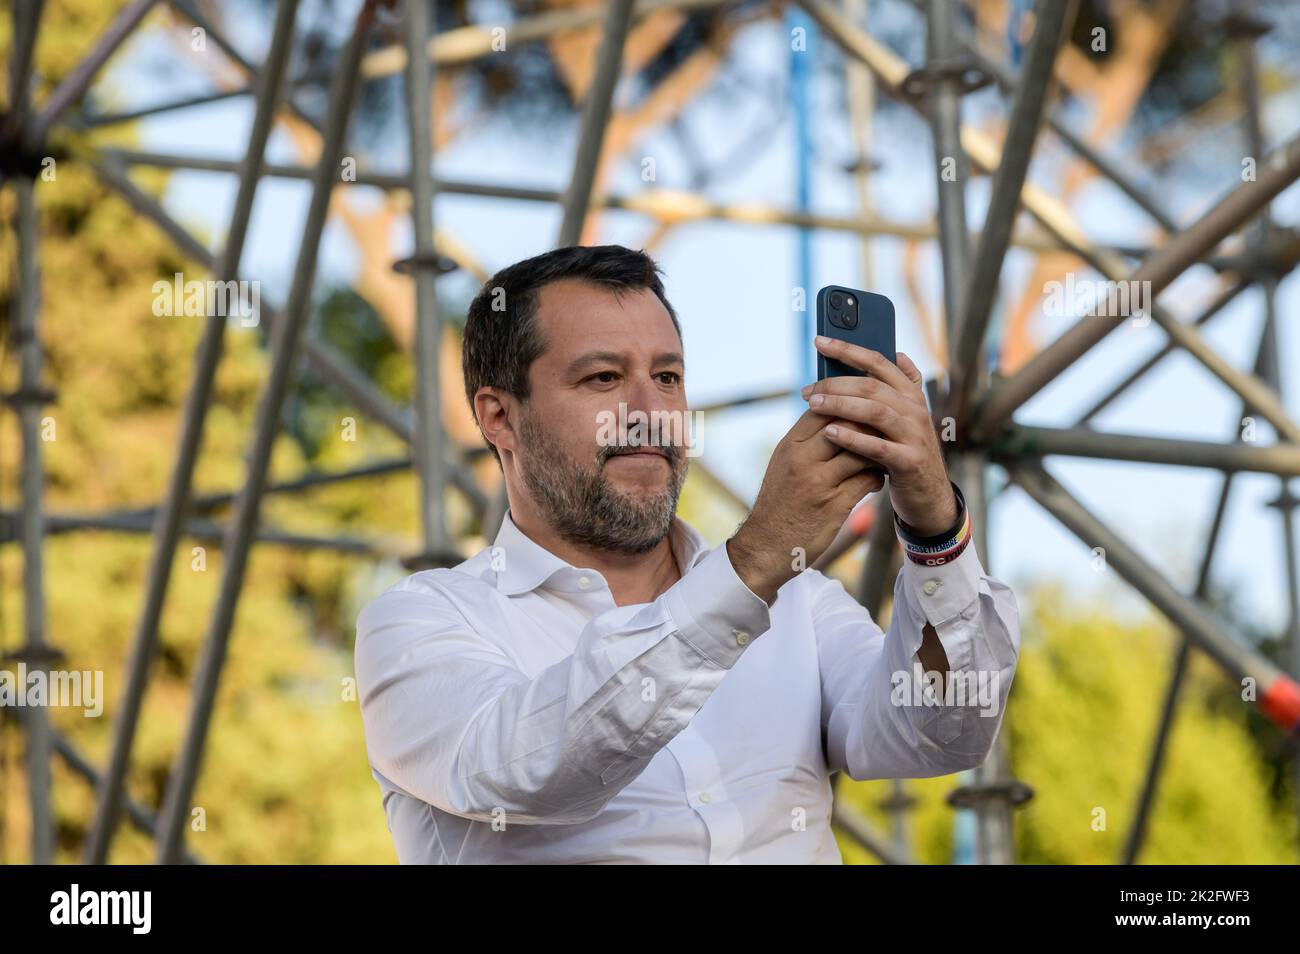
<instances>
[{"instance_id":1,"label":"left one of two long parallel slanting poles left of the man","mask_svg":"<svg viewBox=\"0 0 1300 954\"><path fill-rule=\"evenodd\" d=\"M294 17L298 13L298 0L280 0L276 9L276 25L272 32L270 51L259 77L257 105L254 113L252 130L248 135L248 149L244 153L239 173L239 192L235 198L226 244L216 264L216 277L220 282L235 281L239 274L239 260L243 257L244 239L248 234L248 221L252 216L254 199L257 195L257 182L261 174L261 161L276 117L276 103L289 62L290 44L294 34ZM172 580L172 567L176 558L176 545L185 522L186 504L190 499L194 481L194 467L203 445L203 421L212 403L217 365L221 361L224 339L229 316L209 315L203 329L203 338L194 359L194 378L186 399L185 417L181 425L181 443L177 450L172 481L166 498L159 508L153 522L153 547L150 559L148 577L144 587L144 611L140 613L131 642L131 655L126 667L126 690L122 695L122 708L118 712L113 730L113 750L104 771L103 788L95 806L95 820L86 842L86 863L104 864L112 846L113 834L121 812L122 789L131 762L131 747L135 742L135 729L144 704L144 690L148 685L150 665L157 651L159 624L162 619L162 606L166 600L168 584Z\"/></svg>"}]
</instances>

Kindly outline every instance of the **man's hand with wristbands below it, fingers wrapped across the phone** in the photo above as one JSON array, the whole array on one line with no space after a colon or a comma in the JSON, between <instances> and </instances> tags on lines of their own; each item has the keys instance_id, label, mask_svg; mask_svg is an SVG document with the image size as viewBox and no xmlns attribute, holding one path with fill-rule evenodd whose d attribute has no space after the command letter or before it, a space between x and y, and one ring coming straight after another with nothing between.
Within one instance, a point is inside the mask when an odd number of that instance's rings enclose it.
<instances>
[{"instance_id":1,"label":"man's hand with wristbands below it, fingers wrapped across the phone","mask_svg":"<svg viewBox=\"0 0 1300 954\"><path fill-rule=\"evenodd\" d=\"M957 521L957 498L916 365L901 351L896 367L878 351L820 335L816 348L871 376L826 378L803 389L812 412L835 419L826 437L885 469L889 499L907 526L922 537L944 533Z\"/></svg>"}]
</instances>

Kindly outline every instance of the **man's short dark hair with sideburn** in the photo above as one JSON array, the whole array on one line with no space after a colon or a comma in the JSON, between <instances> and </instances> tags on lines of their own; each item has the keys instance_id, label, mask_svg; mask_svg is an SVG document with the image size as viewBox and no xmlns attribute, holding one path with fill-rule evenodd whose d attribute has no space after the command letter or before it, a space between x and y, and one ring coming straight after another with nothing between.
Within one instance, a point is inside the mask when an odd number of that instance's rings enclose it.
<instances>
[{"instance_id":1,"label":"man's short dark hair with sideburn","mask_svg":"<svg viewBox=\"0 0 1300 954\"><path fill-rule=\"evenodd\" d=\"M480 387L499 387L520 400L528 399L528 369L546 350L537 322L538 292L551 282L580 281L615 295L650 289L668 309L680 338L681 324L663 292L660 272L645 250L567 246L516 261L494 274L484 282L465 315L460 360L471 411ZM491 441L488 448L499 463L500 454Z\"/></svg>"}]
</instances>

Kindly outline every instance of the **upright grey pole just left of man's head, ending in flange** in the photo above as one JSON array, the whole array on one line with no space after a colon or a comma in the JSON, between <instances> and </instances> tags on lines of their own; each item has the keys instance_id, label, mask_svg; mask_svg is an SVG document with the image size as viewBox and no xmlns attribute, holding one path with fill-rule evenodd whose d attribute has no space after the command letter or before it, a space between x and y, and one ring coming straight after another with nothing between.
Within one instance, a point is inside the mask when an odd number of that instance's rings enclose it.
<instances>
[{"instance_id":1,"label":"upright grey pole just left of man's head, ending in flange","mask_svg":"<svg viewBox=\"0 0 1300 954\"><path fill-rule=\"evenodd\" d=\"M454 567L462 561L447 538L447 465L443 458L438 351L442 318L438 313L438 255L433 242L433 70L424 56L425 42L437 34L429 0L406 0L407 120L411 147L411 221L415 226L415 369L416 441L420 474L420 517L424 551L404 560L408 569Z\"/></svg>"}]
</instances>

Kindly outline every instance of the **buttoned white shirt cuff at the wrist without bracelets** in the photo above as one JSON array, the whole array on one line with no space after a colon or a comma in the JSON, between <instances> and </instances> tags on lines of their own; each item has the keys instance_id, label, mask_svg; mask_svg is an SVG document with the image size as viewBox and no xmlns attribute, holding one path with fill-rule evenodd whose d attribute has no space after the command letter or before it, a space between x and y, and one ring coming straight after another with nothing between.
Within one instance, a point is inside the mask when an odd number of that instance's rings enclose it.
<instances>
[{"instance_id":1,"label":"buttoned white shirt cuff at the wrist without bracelets","mask_svg":"<svg viewBox=\"0 0 1300 954\"><path fill-rule=\"evenodd\" d=\"M725 545L663 595L679 636L723 669L772 625L767 603L736 573Z\"/></svg>"}]
</instances>

